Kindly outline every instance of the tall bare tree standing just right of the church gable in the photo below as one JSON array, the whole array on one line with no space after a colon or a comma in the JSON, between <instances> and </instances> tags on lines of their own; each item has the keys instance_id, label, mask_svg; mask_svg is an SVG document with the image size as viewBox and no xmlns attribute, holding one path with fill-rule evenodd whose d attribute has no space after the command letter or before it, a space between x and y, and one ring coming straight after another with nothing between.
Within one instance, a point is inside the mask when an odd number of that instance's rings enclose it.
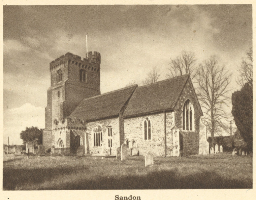
<instances>
[{"instance_id":1,"label":"tall bare tree standing just right of the church gable","mask_svg":"<svg viewBox=\"0 0 256 200\"><path fill-rule=\"evenodd\" d=\"M228 130L228 113L223 109L227 106L230 91L228 85L231 81L231 74L224 70L216 55L206 59L200 65L198 76L198 97L204 112L204 123L211 132L212 144L214 147L214 135L221 135L223 130Z\"/></svg>"}]
</instances>

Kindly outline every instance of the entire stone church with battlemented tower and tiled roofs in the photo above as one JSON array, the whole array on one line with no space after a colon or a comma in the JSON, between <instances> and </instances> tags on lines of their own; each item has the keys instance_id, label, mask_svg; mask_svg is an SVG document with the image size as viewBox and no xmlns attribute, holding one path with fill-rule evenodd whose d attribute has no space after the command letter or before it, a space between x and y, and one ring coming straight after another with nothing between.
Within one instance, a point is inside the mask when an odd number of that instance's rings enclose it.
<instances>
[{"instance_id":1,"label":"entire stone church with battlemented tower and tiled roofs","mask_svg":"<svg viewBox=\"0 0 256 200\"><path fill-rule=\"evenodd\" d=\"M60 153L199 154L203 116L189 75L100 94L100 53L66 53L50 63L43 145ZM207 147L208 148L208 147Z\"/></svg>"}]
</instances>

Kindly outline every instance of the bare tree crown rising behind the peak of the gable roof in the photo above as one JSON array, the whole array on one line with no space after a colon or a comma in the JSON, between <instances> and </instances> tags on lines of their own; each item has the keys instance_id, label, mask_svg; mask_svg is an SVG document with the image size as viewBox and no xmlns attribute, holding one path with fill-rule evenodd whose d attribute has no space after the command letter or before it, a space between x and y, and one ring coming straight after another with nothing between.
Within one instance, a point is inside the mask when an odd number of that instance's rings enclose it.
<instances>
[{"instance_id":1,"label":"bare tree crown rising behind the peak of the gable roof","mask_svg":"<svg viewBox=\"0 0 256 200\"><path fill-rule=\"evenodd\" d=\"M195 66L195 62L195 54L193 52L183 50L181 56L171 59L167 77L172 78L183 74L190 74L190 78L193 80L198 75L198 69Z\"/></svg>"}]
</instances>

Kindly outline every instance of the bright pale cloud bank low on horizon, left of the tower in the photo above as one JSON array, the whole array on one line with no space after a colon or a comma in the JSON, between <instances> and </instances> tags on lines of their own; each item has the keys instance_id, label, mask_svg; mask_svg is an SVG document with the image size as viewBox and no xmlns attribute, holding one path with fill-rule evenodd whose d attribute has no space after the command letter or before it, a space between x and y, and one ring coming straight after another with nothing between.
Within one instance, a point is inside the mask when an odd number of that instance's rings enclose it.
<instances>
[{"instance_id":1,"label":"bright pale cloud bank low on horizon, left of the tower","mask_svg":"<svg viewBox=\"0 0 256 200\"><path fill-rule=\"evenodd\" d=\"M26 103L18 108L7 109L4 111L4 143L22 144L20 132L26 127L37 126L44 128L44 108L35 107Z\"/></svg>"}]
</instances>

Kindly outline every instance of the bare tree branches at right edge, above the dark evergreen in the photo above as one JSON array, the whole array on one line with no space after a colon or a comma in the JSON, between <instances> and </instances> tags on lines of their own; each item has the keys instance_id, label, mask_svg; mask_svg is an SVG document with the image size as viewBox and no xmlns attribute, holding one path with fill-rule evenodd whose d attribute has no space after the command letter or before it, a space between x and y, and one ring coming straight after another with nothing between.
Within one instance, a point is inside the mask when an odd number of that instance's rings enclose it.
<instances>
[{"instance_id":1,"label":"bare tree branches at right edge, above the dark evergreen","mask_svg":"<svg viewBox=\"0 0 256 200\"><path fill-rule=\"evenodd\" d=\"M238 68L238 78L236 80L237 84L244 86L245 83L249 83L252 87L252 47L249 48L247 58L242 59L241 66Z\"/></svg>"}]
</instances>

